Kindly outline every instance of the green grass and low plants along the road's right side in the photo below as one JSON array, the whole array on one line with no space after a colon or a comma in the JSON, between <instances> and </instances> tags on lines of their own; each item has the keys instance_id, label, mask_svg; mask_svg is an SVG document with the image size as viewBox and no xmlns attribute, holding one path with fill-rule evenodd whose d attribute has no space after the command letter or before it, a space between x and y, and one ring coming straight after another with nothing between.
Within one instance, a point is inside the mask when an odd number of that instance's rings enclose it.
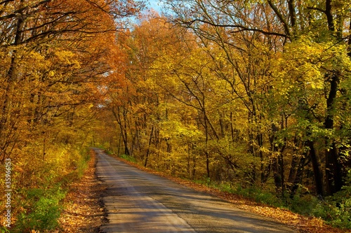
<instances>
[{"instance_id":1,"label":"green grass and low plants along the road's right side","mask_svg":"<svg viewBox=\"0 0 351 233\"><path fill-rule=\"evenodd\" d=\"M282 197L277 197L274 193L256 186L243 188L239 184L233 185L227 182L218 183L206 180L194 182L215 188L220 192L239 195L260 204L288 209L303 216L322 218L325 223L333 227L345 230L351 229L351 188L349 186L324 199L318 199L314 195L301 194L300 192L293 198L285 195L285 198L282 199Z\"/></svg>"}]
</instances>

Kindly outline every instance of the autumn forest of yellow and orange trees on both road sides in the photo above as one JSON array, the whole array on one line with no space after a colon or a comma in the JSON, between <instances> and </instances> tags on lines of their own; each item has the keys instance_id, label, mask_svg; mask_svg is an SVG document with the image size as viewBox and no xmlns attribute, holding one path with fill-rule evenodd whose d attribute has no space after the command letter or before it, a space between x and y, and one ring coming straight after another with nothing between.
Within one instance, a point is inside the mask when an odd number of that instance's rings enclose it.
<instances>
[{"instance_id":1,"label":"autumn forest of yellow and orange trees on both road sides","mask_svg":"<svg viewBox=\"0 0 351 233\"><path fill-rule=\"evenodd\" d=\"M55 229L89 146L351 229L350 1L161 2L0 0L0 230Z\"/></svg>"}]
</instances>

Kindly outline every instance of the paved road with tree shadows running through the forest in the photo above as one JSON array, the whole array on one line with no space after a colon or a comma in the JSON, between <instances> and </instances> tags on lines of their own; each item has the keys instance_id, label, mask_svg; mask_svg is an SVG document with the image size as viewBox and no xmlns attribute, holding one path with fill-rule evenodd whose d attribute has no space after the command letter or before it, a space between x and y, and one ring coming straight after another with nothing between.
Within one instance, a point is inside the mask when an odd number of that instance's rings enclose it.
<instances>
[{"instance_id":1,"label":"paved road with tree shadows running through the forest","mask_svg":"<svg viewBox=\"0 0 351 233\"><path fill-rule=\"evenodd\" d=\"M108 185L102 232L296 232L94 150L97 175Z\"/></svg>"}]
</instances>

